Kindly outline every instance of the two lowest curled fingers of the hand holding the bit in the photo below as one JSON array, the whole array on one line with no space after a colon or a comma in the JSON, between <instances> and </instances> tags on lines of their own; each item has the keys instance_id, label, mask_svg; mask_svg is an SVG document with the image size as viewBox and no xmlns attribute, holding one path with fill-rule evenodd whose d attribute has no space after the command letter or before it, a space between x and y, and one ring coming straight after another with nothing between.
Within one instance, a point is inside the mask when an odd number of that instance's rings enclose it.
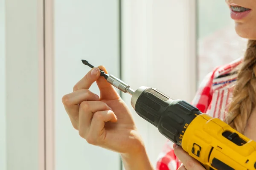
<instances>
[{"instance_id":1,"label":"two lowest curled fingers of the hand holding the bit","mask_svg":"<svg viewBox=\"0 0 256 170\"><path fill-rule=\"evenodd\" d=\"M102 123L110 121L113 115L111 108L104 102L82 102L79 108L79 135L88 143L93 144L104 128Z\"/></svg>"}]
</instances>

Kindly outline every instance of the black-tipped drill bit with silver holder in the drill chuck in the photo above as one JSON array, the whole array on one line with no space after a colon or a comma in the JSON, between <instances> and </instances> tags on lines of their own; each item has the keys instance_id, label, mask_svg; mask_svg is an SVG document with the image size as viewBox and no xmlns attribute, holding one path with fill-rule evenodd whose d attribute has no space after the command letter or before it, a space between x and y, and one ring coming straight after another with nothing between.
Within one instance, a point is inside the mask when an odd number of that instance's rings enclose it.
<instances>
[{"instance_id":1,"label":"black-tipped drill bit with silver holder in the drill chuck","mask_svg":"<svg viewBox=\"0 0 256 170\"><path fill-rule=\"evenodd\" d=\"M83 62L84 65L88 65L90 68L94 68L94 66L91 65L86 60L82 59L82 62ZM100 75L102 77L104 77L111 85L118 88L120 91L122 91L124 93L131 94L131 95L134 94L135 91L133 89L131 89L130 86L128 84L126 84L125 82L123 82L122 80L114 77L113 75L106 74L102 70L100 70Z\"/></svg>"}]
</instances>

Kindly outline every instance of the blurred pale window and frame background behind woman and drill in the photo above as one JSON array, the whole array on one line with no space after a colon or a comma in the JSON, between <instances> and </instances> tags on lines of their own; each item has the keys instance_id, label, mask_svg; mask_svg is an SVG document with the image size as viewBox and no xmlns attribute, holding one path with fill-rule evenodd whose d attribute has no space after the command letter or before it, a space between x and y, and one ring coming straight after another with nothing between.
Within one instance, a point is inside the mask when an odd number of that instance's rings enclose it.
<instances>
[{"instance_id":1,"label":"blurred pale window and frame background behind woman and drill","mask_svg":"<svg viewBox=\"0 0 256 170\"><path fill-rule=\"evenodd\" d=\"M81 59L190 102L245 45L223 0L0 0L0 170L123 169L81 139L62 105L89 71ZM155 165L166 138L133 113Z\"/></svg>"}]
</instances>

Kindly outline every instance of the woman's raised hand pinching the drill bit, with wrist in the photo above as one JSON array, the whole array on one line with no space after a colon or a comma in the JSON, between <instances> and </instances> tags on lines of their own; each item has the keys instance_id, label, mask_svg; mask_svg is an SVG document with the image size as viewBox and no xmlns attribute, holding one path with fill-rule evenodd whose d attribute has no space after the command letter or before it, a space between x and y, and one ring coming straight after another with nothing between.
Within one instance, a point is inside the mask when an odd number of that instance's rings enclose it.
<instances>
[{"instance_id":1,"label":"woman's raised hand pinching the drill bit, with wrist","mask_svg":"<svg viewBox=\"0 0 256 170\"><path fill-rule=\"evenodd\" d=\"M103 66L99 68L107 73ZM73 127L89 144L121 153L127 169L151 169L131 112L114 87L100 77L99 68L89 71L62 98ZM95 81L100 97L89 91Z\"/></svg>"}]
</instances>

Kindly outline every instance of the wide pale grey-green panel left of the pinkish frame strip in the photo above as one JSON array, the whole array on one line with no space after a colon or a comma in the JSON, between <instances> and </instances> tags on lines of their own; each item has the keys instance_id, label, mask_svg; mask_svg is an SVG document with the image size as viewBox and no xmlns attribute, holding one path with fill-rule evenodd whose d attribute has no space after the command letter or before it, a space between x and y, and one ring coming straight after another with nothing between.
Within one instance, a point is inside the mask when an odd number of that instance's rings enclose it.
<instances>
[{"instance_id":1,"label":"wide pale grey-green panel left of the pinkish frame strip","mask_svg":"<svg viewBox=\"0 0 256 170\"><path fill-rule=\"evenodd\" d=\"M38 169L39 22L37 1L6 0L8 170Z\"/></svg>"}]
</instances>

